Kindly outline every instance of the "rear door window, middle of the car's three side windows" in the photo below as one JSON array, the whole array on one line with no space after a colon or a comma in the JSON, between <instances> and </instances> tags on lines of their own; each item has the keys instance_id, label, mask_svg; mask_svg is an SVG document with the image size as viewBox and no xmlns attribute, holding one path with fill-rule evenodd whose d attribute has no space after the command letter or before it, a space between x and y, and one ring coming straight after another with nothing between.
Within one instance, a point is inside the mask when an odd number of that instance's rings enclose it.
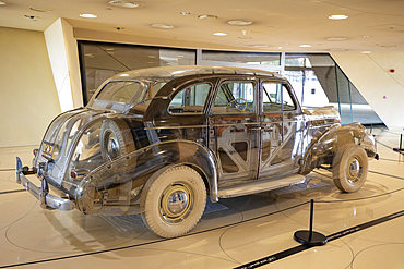
<instances>
[{"instance_id":1,"label":"rear door window, middle of the car's three side windows","mask_svg":"<svg viewBox=\"0 0 404 269\"><path fill-rule=\"evenodd\" d=\"M256 111L256 85L252 82L224 82L218 88L212 114Z\"/></svg>"}]
</instances>

